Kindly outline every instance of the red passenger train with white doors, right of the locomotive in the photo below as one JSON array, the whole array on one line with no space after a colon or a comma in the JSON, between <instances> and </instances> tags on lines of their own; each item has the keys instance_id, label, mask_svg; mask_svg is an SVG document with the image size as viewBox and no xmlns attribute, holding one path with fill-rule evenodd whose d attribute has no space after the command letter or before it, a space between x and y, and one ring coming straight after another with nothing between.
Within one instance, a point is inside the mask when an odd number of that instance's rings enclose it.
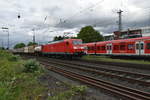
<instances>
[{"instance_id":1,"label":"red passenger train with white doors, right of the locomotive","mask_svg":"<svg viewBox=\"0 0 150 100\"><path fill-rule=\"evenodd\" d=\"M87 54L150 56L150 37L86 43Z\"/></svg>"}]
</instances>

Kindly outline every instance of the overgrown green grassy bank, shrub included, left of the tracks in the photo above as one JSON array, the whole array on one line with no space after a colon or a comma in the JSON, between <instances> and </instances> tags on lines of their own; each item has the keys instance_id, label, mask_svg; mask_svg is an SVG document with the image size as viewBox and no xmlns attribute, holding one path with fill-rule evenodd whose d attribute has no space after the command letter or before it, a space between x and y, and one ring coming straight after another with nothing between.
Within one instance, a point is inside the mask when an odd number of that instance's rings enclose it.
<instances>
[{"instance_id":1,"label":"overgrown green grassy bank, shrub included, left of the tracks","mask_svg":"<svg viewBox=\"0 0 150 100\"><path fill-rule=\"evenodd\" d=\"M0 50L0 100L72 100L84 94L85 86L67 85L69 90L48 96L48 84L39 80L45 72L35 60L22 60Z\"/></svg>"}]
</instances>

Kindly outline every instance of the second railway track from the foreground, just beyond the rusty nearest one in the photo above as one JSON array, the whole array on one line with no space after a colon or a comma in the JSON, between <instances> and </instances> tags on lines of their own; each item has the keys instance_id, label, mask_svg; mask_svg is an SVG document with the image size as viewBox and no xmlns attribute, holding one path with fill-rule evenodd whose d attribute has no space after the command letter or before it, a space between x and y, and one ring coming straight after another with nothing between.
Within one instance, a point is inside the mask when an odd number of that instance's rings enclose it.
<instances>
[{"instance_id":1,"label":"second railway track from the foreground, just beyond the rusty nearest one","mask_svg":"<svg viewBox=\"0 0 150 100\"><path fill-rule=\"evenodd\" d=\"M43 59L40 59L43 60ZM107 77L111 78L117 78L120 80L128 81L130 83L138 83L142 84L144 86L150 87L150 75L147 74L141 74L141 73L133 73L133 72L127 72L127 71L122 71L122 70L113 70L113 69L108 69L108 68L101 68L101 67L94 67L94 66L89 66L89 65L83 65L83 64L78 64L78 63L72 63L68 61L60 61L60 60L43 60L44 62L55 64L55 65L60 65L60 66L65 66L73 69L78 69L82 71L87 71L91 73L96 73L98 75L104 75Z\"/></svg>"}]
</instances>

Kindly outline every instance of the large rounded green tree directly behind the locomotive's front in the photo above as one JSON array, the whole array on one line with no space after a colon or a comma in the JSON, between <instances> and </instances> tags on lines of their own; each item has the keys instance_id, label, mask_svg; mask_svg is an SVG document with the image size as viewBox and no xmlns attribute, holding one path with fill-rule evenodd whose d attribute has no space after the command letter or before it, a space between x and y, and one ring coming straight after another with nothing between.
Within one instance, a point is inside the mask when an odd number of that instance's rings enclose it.
<instances>
[{"instance_id":1,"label":"large rounded green tree directly behind the locomotive's front","mask_svg":"<svg viewBox=\"0 0 150 100\"><path fill-rule=\"evenodd\" d=\"M92 26L83 27L80 30L77 37L82 39L84 43L97 42L103 40L103 36Z\"/></svg>"}]
</instances>

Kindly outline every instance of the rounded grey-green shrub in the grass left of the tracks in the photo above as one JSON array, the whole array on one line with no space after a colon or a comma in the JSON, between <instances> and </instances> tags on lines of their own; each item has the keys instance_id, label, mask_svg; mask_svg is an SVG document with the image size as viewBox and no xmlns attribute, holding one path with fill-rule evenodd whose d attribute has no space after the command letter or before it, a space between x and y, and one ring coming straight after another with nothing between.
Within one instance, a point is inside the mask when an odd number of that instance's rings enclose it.
<instances>
[{"instance_id":1,"label":"rounded grey-green shrub in the grass left of the tracks","mask_svg":"<svg viewBox=\"0 0 150 100\"><path fill-rule=\"evenodd\" d=\"M30 59L24 64L25 72L35 72L39 70L40 64L35 59Z\"/></svg>"}]
</instances>

